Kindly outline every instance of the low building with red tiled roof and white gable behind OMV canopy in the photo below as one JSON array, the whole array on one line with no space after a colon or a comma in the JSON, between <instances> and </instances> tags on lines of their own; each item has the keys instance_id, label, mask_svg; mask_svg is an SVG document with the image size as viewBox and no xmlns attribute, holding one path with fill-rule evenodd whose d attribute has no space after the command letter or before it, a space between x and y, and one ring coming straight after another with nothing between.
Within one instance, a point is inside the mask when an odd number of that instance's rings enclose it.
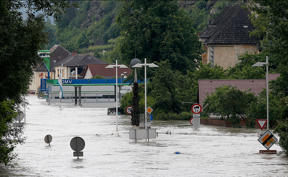
<instances>
[{"instance_id":1,"label":"low building with red tiled roof and white gable behind OMV canopy","mask_svg":"<svg viewBox=\"0 0 288 177\"><path fill-rule=\"evenodd\" d=\"M101 76L106 79L111 79L116 76L116 68L105 68L109 64L88 64L83 74L84 79L91 79L93 76ZM126 72L126 73L124 73ZM127 76L132 72L131 68L117 68L117 76L126 74Z\"/></svg>"}]
</instances>

